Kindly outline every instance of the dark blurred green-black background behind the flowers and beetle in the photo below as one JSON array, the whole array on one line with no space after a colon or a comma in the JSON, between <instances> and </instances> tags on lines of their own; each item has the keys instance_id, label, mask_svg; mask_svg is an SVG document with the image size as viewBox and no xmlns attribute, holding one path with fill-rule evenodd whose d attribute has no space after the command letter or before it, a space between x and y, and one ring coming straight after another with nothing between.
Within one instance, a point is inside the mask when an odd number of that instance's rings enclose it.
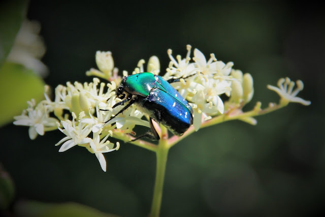
<instances>
[{"instance_id":1,"label":"dark blurred green-black background behind the flowers and beetle","mask_svg":"<svg viewBox=\"0 0 325 217\"><path fill-rule=\"evenodd\" d=\"M120 72L151 55L168 67L167 49L186 45L207 58L234 62L254 79L266 107L278 96L266 88L281 77L304 81L310 106L289 104L257 117L202 129L170 150L161 216L312 216L325 213L325 19L315 3L288 1L38 1L27 18L41 23L42 59L53 88L91 81L97 50L111 51ZM19 88L19 87L17 87ZM21 89L21 91L24 91ZM13 99L15 100L15 99ZM6 107L1 108L6 109ZM0 129L0 162L16 199L73 201L121 216L147 216L155 155L121 143L105 154L103 172L81 147L59 153L60 132L31 141L26 127Z\"/></svg>"}]
</instances>

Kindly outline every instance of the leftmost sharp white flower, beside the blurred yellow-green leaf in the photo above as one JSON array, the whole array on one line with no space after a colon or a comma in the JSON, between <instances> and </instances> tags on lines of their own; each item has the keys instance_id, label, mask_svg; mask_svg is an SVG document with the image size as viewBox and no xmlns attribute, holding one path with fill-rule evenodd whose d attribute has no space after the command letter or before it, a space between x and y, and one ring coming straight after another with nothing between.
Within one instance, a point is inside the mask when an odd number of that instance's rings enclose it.
<instances>
[{"instance_id":1,"label":"leftmost sharp white flower, beside the blurred yellow-green leaf","mask_svg":"<svg viewBox=\"0 0 325 217\"><path fill-rule=\"evenodd\" d=\"M35 139L37 135L44 135L44 132L48 128L53 128L58 122L57 119L49 117L49 110L42 103L35 107L35 100L31 100L28 103L28 108L23 111L19 116L15 116L14 125L29 126L29 138ZM28 114L26 114L28 113Z\"/></svg>"}]
</instances>

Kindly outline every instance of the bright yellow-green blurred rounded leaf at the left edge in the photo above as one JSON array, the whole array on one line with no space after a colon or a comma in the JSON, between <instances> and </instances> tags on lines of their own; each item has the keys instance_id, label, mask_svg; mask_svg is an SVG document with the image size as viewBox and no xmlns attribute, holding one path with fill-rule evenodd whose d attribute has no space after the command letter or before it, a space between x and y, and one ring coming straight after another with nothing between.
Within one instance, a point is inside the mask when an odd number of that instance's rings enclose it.
<instances>
[{"instance_id":1,"label":"bright yellow-green blurred rounded leaf at the left edge","mask_svg":"<svg viewBox=\"0 0 325 217\"><path fill-rule=\"evenodd\" d=\"M44 99L44 81L24 66L6 62L0 68L0 126L13 121L27 101Z\"/></svg>"}]
</instances>

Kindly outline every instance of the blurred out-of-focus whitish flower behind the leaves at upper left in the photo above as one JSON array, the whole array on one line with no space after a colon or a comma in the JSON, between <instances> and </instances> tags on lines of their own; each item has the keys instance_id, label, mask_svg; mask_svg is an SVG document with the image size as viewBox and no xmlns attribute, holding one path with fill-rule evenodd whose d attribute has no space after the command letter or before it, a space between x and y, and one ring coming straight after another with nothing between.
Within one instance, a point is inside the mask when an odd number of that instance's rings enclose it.
<instances>
[{"instance_id":1,"label":"blurred out-of-focus whitish flower behind the leaves at upper left","mask_svg":"<svg viewBox=\"0 0 325 217\"><path fill-rule=\"evenodd\" d=\"M45 77L48 69L40 60L45 53L44 42L38 35L40 28L37 21L24 20L7 60L22 64Z\"/></svg>"}]
</instances>

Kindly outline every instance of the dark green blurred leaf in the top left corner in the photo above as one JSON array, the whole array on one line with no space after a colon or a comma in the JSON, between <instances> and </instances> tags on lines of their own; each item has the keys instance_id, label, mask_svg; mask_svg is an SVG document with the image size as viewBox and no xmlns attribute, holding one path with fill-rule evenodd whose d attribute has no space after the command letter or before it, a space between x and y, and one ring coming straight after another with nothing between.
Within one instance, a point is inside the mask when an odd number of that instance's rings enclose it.
<instances>
[{"instance_id":1,"label":"dark green blurred leaf in the top left corner","mask_svg":"<svg viewBox=\"0 0 325 217\"><path fill-rule=\"evenodd\" d=\"M2 1L0 3L0 67L4 64L22 21L28 1Z\"/></svg>"}]
</instances>

